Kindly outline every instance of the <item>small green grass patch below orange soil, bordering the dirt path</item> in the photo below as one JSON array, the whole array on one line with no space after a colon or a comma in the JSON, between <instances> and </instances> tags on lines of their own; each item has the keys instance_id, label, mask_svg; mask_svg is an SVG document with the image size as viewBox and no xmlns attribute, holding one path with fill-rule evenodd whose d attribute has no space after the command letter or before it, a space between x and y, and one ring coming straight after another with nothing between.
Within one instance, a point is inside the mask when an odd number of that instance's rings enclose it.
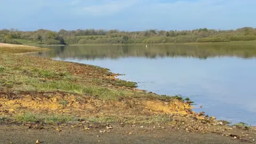
<instances>
[{"instance_id":1,"label":"small green grass patch below orange soil, bordering the dirt path","mask_svg":"<svg viewBox=\"0 0 256 144\"><path fill-rule=\"evenodd\" d=\"M78 118L74 118L66 115L57 115L57 114L34 114L34 113L25 113L15 116L15 121L18 122L44 122L44 123L65 123L65 122L76 122Z\"/></svg>"}]
</instances>

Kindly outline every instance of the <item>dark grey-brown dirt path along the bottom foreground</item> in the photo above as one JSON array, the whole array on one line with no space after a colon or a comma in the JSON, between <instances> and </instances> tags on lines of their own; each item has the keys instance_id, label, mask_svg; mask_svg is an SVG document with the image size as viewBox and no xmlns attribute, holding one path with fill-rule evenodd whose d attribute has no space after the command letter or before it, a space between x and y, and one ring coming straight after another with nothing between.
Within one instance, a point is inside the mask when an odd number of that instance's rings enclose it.
<instances>
[{"instance_id":1,"label":"dark grey-brown dirt path along the bottom foreground","mask_svg":"<svg viewBox=\"0 0 256 144\"><path fill-rule=\"evenodd\" d=\"M0 129L0 143L241 143L231 137L222 136L215 133L188 133L177 131L166 127L163 129L150 128L145 126L132 127L131 125L113 126L114 129L106 128L81 129L64 126L56 131L56 126L47 129L35 130L26 126L6 126ZM101 133L100 131L110 131ZM98 136L97 136L98 135ZM254 141L243 141L243 143L253 143Z\"/></svg>"}]
</instances>

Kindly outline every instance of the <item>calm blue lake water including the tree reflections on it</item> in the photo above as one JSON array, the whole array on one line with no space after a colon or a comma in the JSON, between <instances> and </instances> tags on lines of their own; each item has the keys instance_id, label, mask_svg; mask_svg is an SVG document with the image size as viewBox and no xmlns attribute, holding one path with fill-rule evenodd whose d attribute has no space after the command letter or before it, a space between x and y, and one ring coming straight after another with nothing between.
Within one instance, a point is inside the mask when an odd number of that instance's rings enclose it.
<instances>
[{"instance_id":1,"label":"calm blue lake water including the tree reflections on it","mask_svg":"<svg viewBox=\"0 0 256 144\"><path fill-rule=\"evenodd\" d=\"M109 68L140 89L189 97L197 112L256 125L253 45L62 46L36 55Z\"/></svg>"}]
</instances>

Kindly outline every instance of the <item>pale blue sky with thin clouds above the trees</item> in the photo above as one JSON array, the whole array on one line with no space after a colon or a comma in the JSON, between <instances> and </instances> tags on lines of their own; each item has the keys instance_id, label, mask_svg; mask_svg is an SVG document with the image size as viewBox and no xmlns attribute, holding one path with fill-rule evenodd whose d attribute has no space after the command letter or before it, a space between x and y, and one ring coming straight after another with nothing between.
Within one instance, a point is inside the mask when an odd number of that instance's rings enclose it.
<instances>
[{"instance_id":1,"label":"pale blue sky with thin clouds above the trees","mask_svg":"<svg viewBox=\"0 0 256 144\"><path fill-rule=\"evenodd\" d=\"M0 0L0 29L256 27L255 0Z\"/></svg>"}]
</instances>

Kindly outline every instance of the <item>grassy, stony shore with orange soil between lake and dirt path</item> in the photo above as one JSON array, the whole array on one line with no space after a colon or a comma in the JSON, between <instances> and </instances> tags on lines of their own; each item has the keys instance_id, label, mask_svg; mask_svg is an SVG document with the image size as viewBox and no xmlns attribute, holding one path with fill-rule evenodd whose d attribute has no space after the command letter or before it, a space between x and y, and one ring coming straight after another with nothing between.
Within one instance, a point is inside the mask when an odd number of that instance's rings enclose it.
<instances>
[{"instance_id":1,"label":"grassy, stony shore with orange soil between lake and dirt path","mask_svg":"<svg viewBox=\"0 0 256 144\"><path fill-rule=\"evenodd\" d=\"M11 45L9 51L39 50L25 48ZM195 113L190 100L136 89L107 68L7 52L0 53L0 66L1 123L161 124L199 133L251 130Z\"/></svg>"}]
</instances>

